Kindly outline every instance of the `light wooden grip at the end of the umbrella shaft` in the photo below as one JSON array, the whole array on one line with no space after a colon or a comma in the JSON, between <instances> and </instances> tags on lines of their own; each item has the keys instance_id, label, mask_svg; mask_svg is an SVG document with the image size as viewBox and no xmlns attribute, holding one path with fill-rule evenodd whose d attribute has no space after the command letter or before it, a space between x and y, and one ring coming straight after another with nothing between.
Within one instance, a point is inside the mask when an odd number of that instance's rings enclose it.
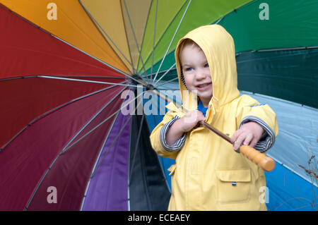
<instances>
[{"instance_id":1,"label":"light wooden grip at the end of the umbrella shaft","mask_svg":"<svg viewBox=\"0 0 318 225\"><path fill-rule=\"evenodd\" d=\"M275 161L271 157L266 157L266 154L261 153L252 147L242 145L240 147L240 153L261 166L261 169L264 169L264 171L269 172L275 168Z\"/></svg>"}]
</instances>

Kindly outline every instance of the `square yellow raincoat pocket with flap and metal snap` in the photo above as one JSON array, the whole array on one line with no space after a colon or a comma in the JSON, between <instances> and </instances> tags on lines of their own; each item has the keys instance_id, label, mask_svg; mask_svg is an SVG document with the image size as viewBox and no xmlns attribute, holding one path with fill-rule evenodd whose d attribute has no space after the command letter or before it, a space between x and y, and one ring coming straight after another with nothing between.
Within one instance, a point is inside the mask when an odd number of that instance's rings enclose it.
<instances>
[{"instance_id":1,"label":"square yellow raincoat pocket with flap and metal snap","mask_svg":"<svg viewBox=\"0 0 318 225\"><path fill-rule=\"evenodd\" d=\"M217 199L220 203L246 202L251 189L249 169L228 169L216 171Z\"/></svg>"}]
</instances>

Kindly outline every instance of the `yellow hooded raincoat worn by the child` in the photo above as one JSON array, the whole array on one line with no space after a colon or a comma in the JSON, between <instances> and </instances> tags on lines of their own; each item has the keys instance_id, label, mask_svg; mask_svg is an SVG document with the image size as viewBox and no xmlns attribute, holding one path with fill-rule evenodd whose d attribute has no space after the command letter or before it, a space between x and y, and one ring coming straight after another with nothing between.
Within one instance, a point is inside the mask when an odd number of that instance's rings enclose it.
<instances>
[{"instance_id":1,"label":"yellow hooded raincoat worn by the child","mask_svg":"<svg viewBox=\"0 0 318 225\"><path fill-rule=\"evenodd\" d=\"M232 37L220 25L207 25L189 32L179 40L175 51L179 88L183 107L196 109L197 99L180 80L179 45L192 39L208 60L213 83L213 97L206 111L206 122L230 137L242 118L255 116L278 134L276 114L252 97L237 90L235 46ZM256 106L257 107L253 107ZM160 129L175 116L183 116L174 104L167 105L163 121L151 133L151 144L160 156L175 159L169 210L266 210L264 171L232 145L200 126L187 133L181 150L169 152L160 144Z\"/></svg>"}]
</instances>

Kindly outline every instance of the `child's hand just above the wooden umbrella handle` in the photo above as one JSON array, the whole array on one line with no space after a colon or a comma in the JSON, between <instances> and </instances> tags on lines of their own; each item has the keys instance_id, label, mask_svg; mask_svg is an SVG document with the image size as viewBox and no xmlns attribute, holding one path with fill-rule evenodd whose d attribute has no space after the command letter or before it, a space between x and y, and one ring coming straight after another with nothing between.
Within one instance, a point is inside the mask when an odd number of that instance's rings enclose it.
<instances>
[{"instance_id":1,"label":"child's hand just above the wooden umbrella handle","mask_svg":"<svg viewBox=\"0 0 318 225\"><path fill-rule=\"evenodd\" d=\"M264 129L259 125L259 123L250 121L241 126L240 129L236 130L232 135L231 141L234 143L233 149L236 151L241 145L249 145L250 147L255 147Z\"/></svg>"}]
</instances>

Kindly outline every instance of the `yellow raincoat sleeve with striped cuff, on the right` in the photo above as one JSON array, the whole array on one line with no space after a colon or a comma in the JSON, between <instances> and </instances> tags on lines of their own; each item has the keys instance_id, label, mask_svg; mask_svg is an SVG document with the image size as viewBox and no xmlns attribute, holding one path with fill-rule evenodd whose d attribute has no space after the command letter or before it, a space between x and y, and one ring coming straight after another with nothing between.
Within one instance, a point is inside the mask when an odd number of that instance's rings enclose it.
<instances>
[{"instance_id":1,"label":"yellow raincoat sleeve with striped cuff, on the right","mask_svg":"<svg viewBox=\"0 0 318 225\"><path fill-rule=\"evenodd\" d=\"M266 152L273 146L275 138L278 135L278 123L275 112L268 104L259 104L252 97L242 95L237 107L237 128L240 128L244 123L249 121L255 121L264 128L265 132L254 148L259 150L259 152Z\"/></svg>"}]
</instances>

